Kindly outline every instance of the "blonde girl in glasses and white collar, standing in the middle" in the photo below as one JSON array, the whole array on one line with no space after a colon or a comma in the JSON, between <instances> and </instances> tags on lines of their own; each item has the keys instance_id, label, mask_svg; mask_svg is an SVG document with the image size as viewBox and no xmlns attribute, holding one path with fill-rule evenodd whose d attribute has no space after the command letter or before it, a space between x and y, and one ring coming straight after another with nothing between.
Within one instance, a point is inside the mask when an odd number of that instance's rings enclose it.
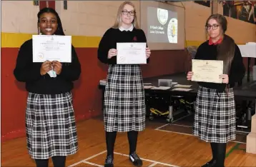
<instances>
[{"instance_id":1,"label":"blonde girl in glasses and white collar, standing in the middle","mask_svg":"<svg viewBox=\"0 0 256 167\"><path fill-rule=\"evenodd\" d=\"M104 129L106 131L107 158L104 166L114 166L114 143L117 132L127 132L129 160L134 166L142 166L136 153L138 131L145 128L145 100L142 71L139 64L117 64L117 43L145 42L146 36L137 24L134 4L124 1L119 7L117 19L99 43L98 59L109 64L104 93ZM150 50L146 49L147 62Z\"/></svg>"}]
</instances>

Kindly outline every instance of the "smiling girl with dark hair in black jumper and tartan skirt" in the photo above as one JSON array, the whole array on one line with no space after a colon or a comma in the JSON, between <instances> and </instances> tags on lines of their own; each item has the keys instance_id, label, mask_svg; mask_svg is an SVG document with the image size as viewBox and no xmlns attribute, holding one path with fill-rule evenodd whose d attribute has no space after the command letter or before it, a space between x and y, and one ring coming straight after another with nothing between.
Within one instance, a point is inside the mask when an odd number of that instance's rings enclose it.
<instances>
[{"instance_id":1,"label":"smiling girl with dark hair in black jumper and tartan skirt","mask_svg":"<svg viewBox=\"0 0 256 167\"><path fill-rule=\"evenodd\" d=\"M38 31L42 35L64 32L54 9L38 13ZM55 167L64 167L66 156L77 153L77 127L72 104L73 83L79 79L81 67L72 46L72 63L59 61L33 63L32 39L19 49L14 76L26 83L26 141L36 166L46 167L52 158Z\"/></svg>"}]
</instances>

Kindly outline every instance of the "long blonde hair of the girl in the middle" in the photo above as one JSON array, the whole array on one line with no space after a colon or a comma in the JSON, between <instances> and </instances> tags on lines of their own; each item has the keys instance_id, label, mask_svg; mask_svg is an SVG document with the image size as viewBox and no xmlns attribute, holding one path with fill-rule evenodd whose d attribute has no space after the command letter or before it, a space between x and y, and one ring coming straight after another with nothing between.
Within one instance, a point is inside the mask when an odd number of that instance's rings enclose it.
<instances>
[{"instance_id":1,"label":"long blonde hair of the girl in the middle","mask_svg":"<svg viewBox=\"0 0 256 167\"><path fill-rule=\"evenodd\" d=\"M132 4L132 2L130 1L124 1L120 6L119 6L119 9L118 9L118 12L117 12L117 18L116 18L116 21L114 21L114 26L112 26L113 29L118 29L119 26L121 26L122 24L122 10L124 10L124 6L125 5L130 5L134 8L134 11L135 11L135 14L134 14L134 19L132 21L132 24L134 26L135 29L139 29L139 24L137 22L137 14L136 14L136 10L135 10L135 6L134 4Z\"/></svg>"}]
</instances>

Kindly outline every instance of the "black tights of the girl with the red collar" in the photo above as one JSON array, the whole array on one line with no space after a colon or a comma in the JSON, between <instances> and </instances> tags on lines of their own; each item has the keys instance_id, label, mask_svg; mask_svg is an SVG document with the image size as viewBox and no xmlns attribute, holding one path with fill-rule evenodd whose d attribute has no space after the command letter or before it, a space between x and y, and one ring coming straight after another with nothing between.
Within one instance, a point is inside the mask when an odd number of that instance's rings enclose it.
<instances>
[{"instance_id":1,"label":"black tights of the girl with the red collar","mask_svg":"<svg viewBox=\"0 0 256 167\"><path fill-rule=\"evenodd\" d=\"M216 166L224 167L227 143L211 143L212 159L217 161Z\"/></svg>"}]
</instances>

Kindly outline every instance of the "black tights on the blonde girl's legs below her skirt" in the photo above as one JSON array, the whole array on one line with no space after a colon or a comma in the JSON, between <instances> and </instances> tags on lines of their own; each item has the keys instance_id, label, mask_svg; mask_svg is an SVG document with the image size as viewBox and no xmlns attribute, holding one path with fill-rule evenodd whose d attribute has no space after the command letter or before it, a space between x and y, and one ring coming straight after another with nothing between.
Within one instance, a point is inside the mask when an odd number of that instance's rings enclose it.
<instances>
[{"instance_id":1,"label":"black tights on the blonde girl's legs below her skirt","mask_svg":"<svg viewBox=\"0 0 256 167\"><path fill-rule=\"evenodd\" d=\"M106 132L106 143L107 143L107 155L114 154L114 143L116 141L117 132ZM129 153L133 153L136 151L137 147L137 138L138 132L137 131L129 131L127 133L128 141L129 141Z\"/></svg>"}]
</instances>

